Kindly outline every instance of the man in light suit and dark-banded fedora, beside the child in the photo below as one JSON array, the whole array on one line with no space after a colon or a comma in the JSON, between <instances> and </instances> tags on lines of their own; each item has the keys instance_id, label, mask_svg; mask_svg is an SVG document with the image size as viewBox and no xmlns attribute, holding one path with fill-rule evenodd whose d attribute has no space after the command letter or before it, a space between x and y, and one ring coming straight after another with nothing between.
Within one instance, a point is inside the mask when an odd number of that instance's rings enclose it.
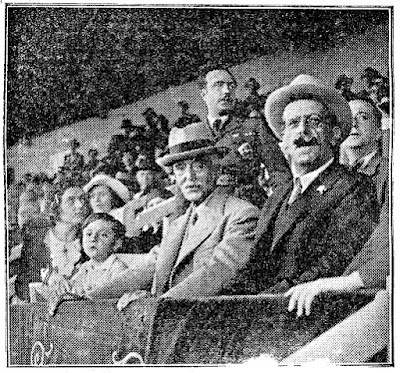
<instances>
[{"instance_id":1,"label":"man in light suit and dark-banded fedora, beside the child","mask_svg":"<svg viewBox=\"0 0 400 373\"><path fill-rule=\"evenodd\" d=\"M200 123L173 128L168 148L158 163L172 167L190 207L164 229L160 246L143 254L146 260L89 294L92 298L150 288L164 297L214 295L248 261L258 209L216 188L220 150L209 131Z\"/></svg>"}]
</instances>

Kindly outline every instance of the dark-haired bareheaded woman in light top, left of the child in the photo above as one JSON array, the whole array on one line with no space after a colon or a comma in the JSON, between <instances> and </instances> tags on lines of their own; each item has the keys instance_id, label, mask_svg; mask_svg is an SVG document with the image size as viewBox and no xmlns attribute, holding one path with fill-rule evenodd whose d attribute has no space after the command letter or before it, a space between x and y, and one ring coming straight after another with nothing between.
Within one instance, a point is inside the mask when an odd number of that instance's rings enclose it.
<instances>
[{"instance_id":1,"label":"dark-haired bareheaded woman in light top, left of the child","mask_svg":"<svg viewBox=\"0 0 400 373\"><path fill-rule=\"evenodd\" d=\"M59 185L52 216L37 216L22 230L22 250L15 268L16 297L29 300L29 283L71 278L86 260L80 233L89 208L84 191L72 183ZM16 298L18 300L18 298Z\"/></svg>"}]
</instances>

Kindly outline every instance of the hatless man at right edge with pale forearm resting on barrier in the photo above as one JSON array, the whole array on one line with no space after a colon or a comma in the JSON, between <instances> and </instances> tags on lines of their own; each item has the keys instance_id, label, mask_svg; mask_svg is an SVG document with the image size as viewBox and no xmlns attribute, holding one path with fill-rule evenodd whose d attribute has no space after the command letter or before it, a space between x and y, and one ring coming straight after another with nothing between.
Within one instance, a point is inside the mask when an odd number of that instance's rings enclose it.
<instances>
[{"instance_id":1,"label":"hatless man at right edge with pale forearm resting on barrier","mask_svg":"<svg viewBox=\"0 0 400 373\"><path fill-rule=\"evenodd\" d=\"M298 316L303 313L309 315L313 300L321 293L385 288L386 278L390 274L389 159L385 154L388 148L385 140L388 137L382 136L382 133L389 130L381 130L382 115L371 99L359 96L350 101L349 105L353 126L349 137L342 143L341 159L357 172L371 177L374 182L381 207L379 224L341 276L300 284L286 293L290 296L289 311L297 308Z\"/></svg>"}]
</instances>

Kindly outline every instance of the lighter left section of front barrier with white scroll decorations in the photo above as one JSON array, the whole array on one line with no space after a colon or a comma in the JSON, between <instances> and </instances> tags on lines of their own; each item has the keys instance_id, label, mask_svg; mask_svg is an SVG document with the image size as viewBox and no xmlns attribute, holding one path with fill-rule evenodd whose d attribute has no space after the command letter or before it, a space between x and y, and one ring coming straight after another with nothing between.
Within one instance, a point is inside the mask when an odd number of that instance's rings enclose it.
<instances>
[{"instance_id":1,"label":"lighter left section of front barrier with white scroll decorations","mask_svg":"<svg viewBox=\"0 0 400 373\"><path fill-rule=\"evenodd\" d=\"M9 363L141 363L156 304L155 299L138 300L120 312L112 300L68 301L54 316L46 304L11 306Z\"/></svg>"}]
</instances>

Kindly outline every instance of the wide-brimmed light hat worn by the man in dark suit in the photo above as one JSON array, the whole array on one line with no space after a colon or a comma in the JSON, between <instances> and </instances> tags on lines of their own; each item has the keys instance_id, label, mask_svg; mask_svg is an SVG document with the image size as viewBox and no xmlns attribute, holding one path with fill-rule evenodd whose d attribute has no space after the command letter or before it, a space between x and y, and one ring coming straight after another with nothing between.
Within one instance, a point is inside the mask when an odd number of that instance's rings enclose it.
<instances>
[{"instance_id":1,"label":"wide-brimmed light hat worn by the man in dark suit","mask_svg":"<svg viewBox=\"0 0 400 373\"><path fill-rule=\"evenodd\" d=\"M299 75L289 85L272 92L265 102L265 118L271 130L282 140L285 123L283 111L295 100L315 99L323 103L336 115L337 125L341 129L341 140L349 134L352 125L350 106L344 97L333 87L326 86L320 79L311 75Z\"/></svg>"}]
</instances>

